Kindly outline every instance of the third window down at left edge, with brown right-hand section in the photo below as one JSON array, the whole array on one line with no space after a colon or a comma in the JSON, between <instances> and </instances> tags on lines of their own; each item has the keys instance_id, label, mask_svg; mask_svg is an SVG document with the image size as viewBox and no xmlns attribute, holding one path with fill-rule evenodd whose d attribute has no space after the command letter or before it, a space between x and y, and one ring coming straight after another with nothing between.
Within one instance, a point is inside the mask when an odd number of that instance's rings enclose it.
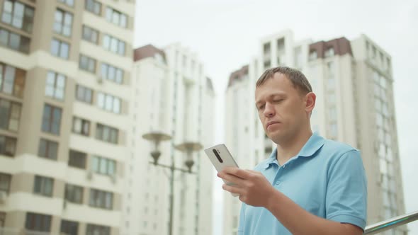
<instances>
[{"instance_id":1,"label":"third window down at left edge, with brown right-hand section","mask_svg":"<svg viewBox=\"0 0 418 235\"><path fill-rule=\"evenodd\" d=\"M0 92L23 97L26 71L0 63Z\"/></svg>"}]
</instances>

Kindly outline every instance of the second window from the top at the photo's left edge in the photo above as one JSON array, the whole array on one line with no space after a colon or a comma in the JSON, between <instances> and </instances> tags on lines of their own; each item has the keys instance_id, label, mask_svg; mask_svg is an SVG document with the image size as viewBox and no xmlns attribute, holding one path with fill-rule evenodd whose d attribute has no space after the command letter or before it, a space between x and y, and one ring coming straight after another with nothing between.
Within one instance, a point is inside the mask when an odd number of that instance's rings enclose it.
<instances>
[{"instance_id":1,"label":"second window from the top at the photo's left edge","mask_svg":"<svg viewBox=\"0 0 418 235\"><path fill-rule=\"evenodd\" d=\"M0 45L9 47L11 50L28 53L30 39L16 33L11 33L4 28L0 28Z\"/></svg>"}]
</instances>

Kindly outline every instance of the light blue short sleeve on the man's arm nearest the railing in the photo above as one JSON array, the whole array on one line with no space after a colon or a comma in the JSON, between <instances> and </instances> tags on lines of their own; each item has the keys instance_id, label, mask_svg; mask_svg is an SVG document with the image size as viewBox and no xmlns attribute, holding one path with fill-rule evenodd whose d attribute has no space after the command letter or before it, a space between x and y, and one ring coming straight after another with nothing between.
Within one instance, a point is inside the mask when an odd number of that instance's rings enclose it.
<instances>
[{"instance_id":1,"label":"light blue short sleeve on the man's arm nearest the railing","mask_svg":"<svg viewBox=\"0 0 418 235\"><path fill-rule=\"evenodd\" d=\"M366 173L358 150L347 151L328 168L327 219L363 229L367 217Z\"/></svg>"}]
</instances>

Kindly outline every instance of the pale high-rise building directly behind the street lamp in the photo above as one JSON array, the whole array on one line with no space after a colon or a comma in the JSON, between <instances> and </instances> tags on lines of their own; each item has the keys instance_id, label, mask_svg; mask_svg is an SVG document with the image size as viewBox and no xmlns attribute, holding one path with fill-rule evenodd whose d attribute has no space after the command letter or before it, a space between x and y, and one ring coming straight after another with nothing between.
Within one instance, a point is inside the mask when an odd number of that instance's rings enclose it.
<instances>
[{"instance_id":1,"label":"pale high-rise building directly behind the street lamp","mask_svg":"<svg viewBox=\"0 0 418 235\"><path fill-rule=\"evenodd\" d=\"M134 51L132 72L132 158L127 188L125 234L167 234L170 229L170 173L152 164L154 144L143 134L162 132L171 139L159 144L159 164L187 169L174 173L173 234L212 234L213 167L203 149L188 155L176 149L186 142L210 147L214 141L215 93L197 55L179 44L160 50L146 45ZM191 157L191 158L190 158ZM151 163L150 163L151 162ZM167 177L168 176L168 177ZM129 208L129 209L128 209ZM129 222L130 221L130 222ZM135 226L135 227L133 227ZM129 231L129 232L128 232Z\"/></svg>"}]
</instances>

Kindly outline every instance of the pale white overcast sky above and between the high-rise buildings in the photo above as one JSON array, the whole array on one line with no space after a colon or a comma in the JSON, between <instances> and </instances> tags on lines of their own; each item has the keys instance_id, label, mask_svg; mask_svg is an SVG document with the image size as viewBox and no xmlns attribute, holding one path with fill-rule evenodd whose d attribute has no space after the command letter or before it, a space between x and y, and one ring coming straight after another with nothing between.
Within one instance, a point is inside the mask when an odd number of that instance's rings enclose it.
<instances>
[{"instance_id":1,"label":"pale white overcast sky above and between the high-rise buildings","mask_svg":"<svg viewBox=\"0 0 418 235\"><path fill-rule=\"evenodd\" d=\"M261 38L284 29L293 30L295 40L314 41L352 40L364 33L392 56L406 212L418 210L418 1L137 0L134 47L181 42L196 52L213 79L222 112L230 73L249 63ZM217 122L215 142L222 142L220 116ZM216 179L214 205L222 205L220 185ZM220 207L213 218L213 234L220 235ZM418 222L409 229L418 234Z\"/></svg>"}]
</instances>

